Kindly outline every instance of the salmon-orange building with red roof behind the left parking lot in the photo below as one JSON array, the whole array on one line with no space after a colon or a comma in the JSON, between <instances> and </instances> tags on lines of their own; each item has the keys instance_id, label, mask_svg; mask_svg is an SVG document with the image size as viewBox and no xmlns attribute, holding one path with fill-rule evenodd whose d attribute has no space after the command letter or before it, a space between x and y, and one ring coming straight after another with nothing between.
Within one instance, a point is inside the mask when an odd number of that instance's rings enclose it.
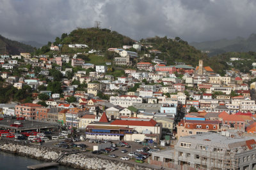
<instances>
[{"instance_id":1,"label":"salmon-orange building with red roof behind the left parking lot","mask_svg":"<svg viewBox=\"0 0 256 170\"><path fill-rule=\"evenodd\" d=\"M35 119L36 108L43 108L40 104L24 103L15 106L15 115L17 117L26 117L28 119Z\"/></svg>"}]
</instances>

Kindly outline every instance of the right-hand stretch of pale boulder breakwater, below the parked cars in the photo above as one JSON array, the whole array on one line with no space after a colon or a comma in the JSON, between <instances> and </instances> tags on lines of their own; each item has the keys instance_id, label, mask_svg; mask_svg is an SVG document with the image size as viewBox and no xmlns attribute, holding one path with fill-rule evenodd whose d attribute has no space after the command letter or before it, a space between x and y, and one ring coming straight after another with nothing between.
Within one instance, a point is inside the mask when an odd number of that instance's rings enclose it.
<instances>
[{"instance_id":1,"label":"right-hand stretch of pale boulder breakwater, below the parked cars","mask_svg":"<svg viewBox=\"0 0 256 170\"><path fill-rule=\"evenodd\" d=\"M60 164L76 167L79 169L151 170L148 167L139 166L138 164L103 159L99 157L93 157L90 155L84 155L83 153L65 155L65 157L63 157L63 159L60 160Z\"/></svg>"}]
</instances>

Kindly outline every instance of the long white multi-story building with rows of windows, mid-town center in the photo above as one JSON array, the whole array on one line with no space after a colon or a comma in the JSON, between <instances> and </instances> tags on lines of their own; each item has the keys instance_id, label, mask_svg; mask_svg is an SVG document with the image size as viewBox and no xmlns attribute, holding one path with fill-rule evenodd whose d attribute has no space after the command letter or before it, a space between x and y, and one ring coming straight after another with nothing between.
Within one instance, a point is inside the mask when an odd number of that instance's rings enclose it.
<instances>
[{"instance_id":1,"label":"long white multi-story building with rows of windows, mid-town center","mask_svg":"<svg viewBox=\"0 0 256 170\"><path fill-rule=\"evenodd\" d=\"M142 98L138 96L111 96L109 102L122 107L132 106L132 103L142 103Z\"/></svg>"}]
</instances>

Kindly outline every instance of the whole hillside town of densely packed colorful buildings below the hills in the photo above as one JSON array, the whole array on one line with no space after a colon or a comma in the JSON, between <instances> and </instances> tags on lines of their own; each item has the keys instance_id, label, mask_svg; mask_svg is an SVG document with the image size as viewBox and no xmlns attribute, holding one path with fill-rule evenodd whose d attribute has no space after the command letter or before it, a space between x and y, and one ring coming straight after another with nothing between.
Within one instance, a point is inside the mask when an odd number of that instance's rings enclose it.
<instances>
[{"instance_id":1,"label":"whole hillside town of densely packed colorful buildings below the hills","mask_svg":"<svg viewBox=\"0 0 256 170\"><path fill-rule=\"evenodd\" d=\"M142 47L149 53L139 55ZM50 50L60 48L52 44ZM131 156L162 169L256 168L256 63L250 73L230 69L220 75L202 59L196 67L186 60L170 66L157 57L161 50L140 42L108 48L115 57L99 65L83 58L102 56L99 50L85 44L68 48L86 52L0 56L2 87L17 90L15 99L0 104L1 139L17 140L15 131L27 140L36 133L28 131L56 128L58 135L42 135L44 141L76 137L127 148L140 143L121 159L132 161ZM114 70L124 74L116 76ZM101 152L112 151L113 143ZM92 152L97 156L100 149Z\"/></svg>"}]
</instances>

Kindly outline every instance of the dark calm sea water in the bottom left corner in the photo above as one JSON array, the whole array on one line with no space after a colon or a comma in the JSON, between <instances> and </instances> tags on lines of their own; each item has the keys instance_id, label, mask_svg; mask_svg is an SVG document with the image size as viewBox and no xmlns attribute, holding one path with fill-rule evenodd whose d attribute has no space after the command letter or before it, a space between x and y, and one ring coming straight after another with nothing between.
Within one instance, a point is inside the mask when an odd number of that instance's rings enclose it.
<instances>
[{"instance_id":1,"label":"dark calm sea water in the bottom left corner","mask_svg":"<svg viewBox=\"0 0 256 170\"><path fill-rule=\"evenodd\" d=\"M18 155L14 155L12 153L0 152L0 169L1 170L23 170L27 169L27 166L31 166L34 164L42 164L43 161L31 159L28 157L20 157ZM75 170L70 167L58 166L58 167L50 167L47 168L51 170Z\"/></svg>"}]
</instances>

